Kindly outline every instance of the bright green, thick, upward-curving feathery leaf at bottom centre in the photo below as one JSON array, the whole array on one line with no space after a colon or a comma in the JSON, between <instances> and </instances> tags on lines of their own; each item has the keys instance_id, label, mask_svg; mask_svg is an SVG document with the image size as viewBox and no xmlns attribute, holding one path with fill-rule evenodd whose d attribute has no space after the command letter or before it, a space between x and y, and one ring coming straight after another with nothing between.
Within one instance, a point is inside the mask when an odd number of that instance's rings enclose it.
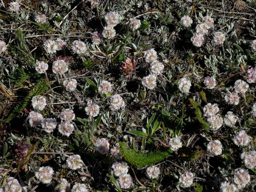
<instances>
[{"instance_id":1,"label":"bright green, thick, upward-curving feathery leaf at bottom centre","mask_svg":"<svg viewBox=\"0 0 256 192\"><path fill-rule=\"evenodd\" d=\"M166 149L163 151L151 151L149 153L142 153L130 149L124 142L119 142L120 151L124 159L132 165L137 167L144 167L146 165L153 165L164 160L172 150Z\"/></svg>"}]
</instances>

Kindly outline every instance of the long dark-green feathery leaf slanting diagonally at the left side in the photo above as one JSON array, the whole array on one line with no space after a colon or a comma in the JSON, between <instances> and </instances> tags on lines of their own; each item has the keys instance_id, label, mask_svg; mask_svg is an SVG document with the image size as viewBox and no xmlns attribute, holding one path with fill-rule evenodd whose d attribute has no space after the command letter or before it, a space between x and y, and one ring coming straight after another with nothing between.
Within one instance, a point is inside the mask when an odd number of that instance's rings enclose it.
<instances>
[{"instance_id":1,"label":"long dark-green feathery leaf slanting diagonally at the left side","mask_svg":"<svg viewBox=\"0 0 256 192\"><path fill-rule=\"evenodd\" d=\"M19 113L21 113L28 104L31 103L32 97L36 95L41 95L43 92L49 89L50 82L48 81L40 81L32 91L27 95L24 101L20 102L12 111L12 113L9 115L9 117L6 119L8 122L10 122L14 117L18 116Z\"/></svg>"}]
</instances>

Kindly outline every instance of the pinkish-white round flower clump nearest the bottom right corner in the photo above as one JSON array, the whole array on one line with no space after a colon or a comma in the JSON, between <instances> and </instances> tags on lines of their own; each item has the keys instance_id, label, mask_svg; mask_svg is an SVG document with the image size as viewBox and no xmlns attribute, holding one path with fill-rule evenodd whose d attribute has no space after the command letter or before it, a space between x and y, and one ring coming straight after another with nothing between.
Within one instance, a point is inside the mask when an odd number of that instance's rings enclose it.
<instances>
[{"instance_id":1,"label":"pinkish-white round flower clump nearest the bottom right corner","mask_svg":"<svg viewBox=\"0 0 256 192\"><path fill-rule=\"evenodd\" d=\"M234 183L239 189L243 188L250 182L250 177L248 170L238 168L235 170Z\"/></svg>"}]
</instances>

